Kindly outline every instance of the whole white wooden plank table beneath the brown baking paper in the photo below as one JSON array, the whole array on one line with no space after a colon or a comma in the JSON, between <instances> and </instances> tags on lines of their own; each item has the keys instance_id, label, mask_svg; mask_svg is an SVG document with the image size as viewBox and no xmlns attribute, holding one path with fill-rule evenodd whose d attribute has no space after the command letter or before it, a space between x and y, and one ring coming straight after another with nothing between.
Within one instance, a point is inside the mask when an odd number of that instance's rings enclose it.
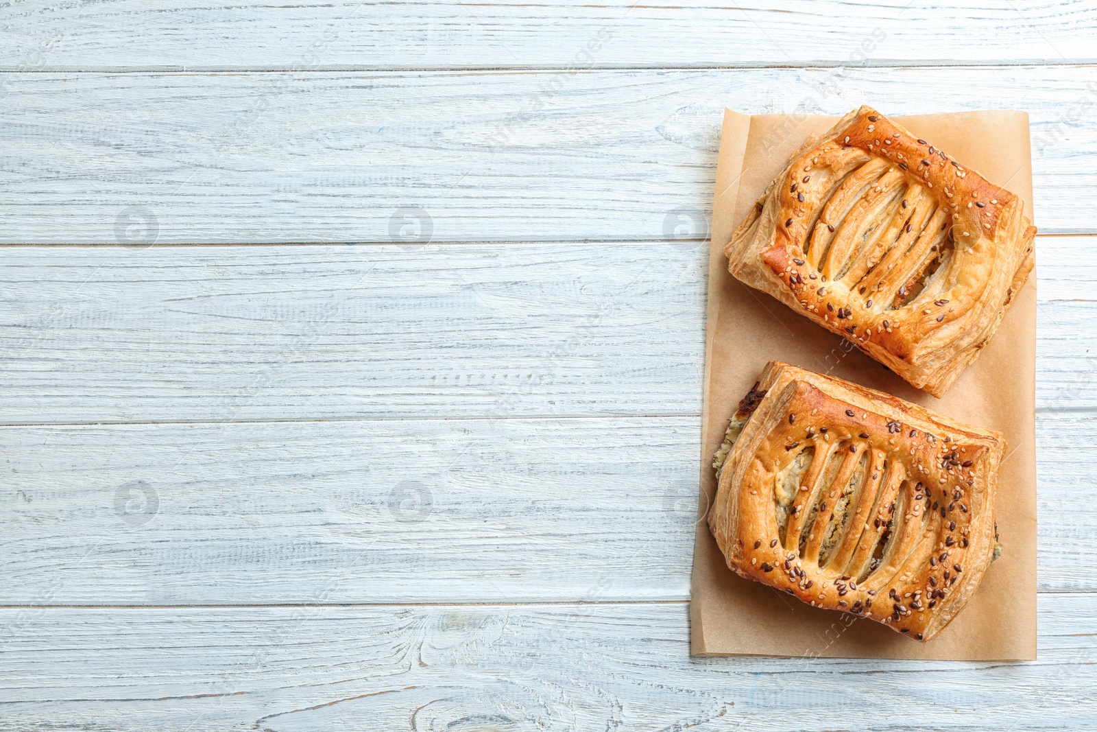
<instances>
[{"instance_id":1,"label":"whole white wooden plank table beneath the brown baking paper","mask_svg":"<svg viewBox=\"0 0 1097 732\"><path fill-rule=\"evenodd\" d=\"M0 730L1093 729L1095 38L1092 0L4 3ZM1031 114L1033 663L688 655L721 111L862 102Z\"/></svg>"}]
</instances>

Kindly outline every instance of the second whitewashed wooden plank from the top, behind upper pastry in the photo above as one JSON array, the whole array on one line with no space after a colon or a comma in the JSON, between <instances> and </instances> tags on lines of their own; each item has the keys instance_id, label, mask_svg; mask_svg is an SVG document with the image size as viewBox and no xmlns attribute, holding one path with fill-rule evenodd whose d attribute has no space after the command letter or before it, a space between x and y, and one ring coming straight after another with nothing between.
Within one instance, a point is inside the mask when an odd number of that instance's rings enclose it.
<instances>
[{"instance_id":1,"label":"second whitewashed wooden plank from the top, behind upper pastry","mask_svg":"<svg viewBox=\"0 0 1097 732\"><path fill-rule=\"evenodd\" d=\"M0 243L703 238L725 104L866 101L1028 110L1037 223L1097 232L1090 66L2 77Z\"/></svg>"}]
</instances>

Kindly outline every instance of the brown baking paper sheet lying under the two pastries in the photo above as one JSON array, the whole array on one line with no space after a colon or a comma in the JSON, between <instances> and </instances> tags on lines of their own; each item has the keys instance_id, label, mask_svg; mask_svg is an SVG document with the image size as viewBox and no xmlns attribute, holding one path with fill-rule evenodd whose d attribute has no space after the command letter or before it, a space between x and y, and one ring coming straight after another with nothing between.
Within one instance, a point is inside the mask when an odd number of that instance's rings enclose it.
<instances>
[{"instance_id":1,"label":"brown baking paper sheet lying under the two pastries","mask_svg":"<svg viewBox=\"0 0 1097 732\"><path fill-rule=\"evenodd\" d=\"M915 135L1013 191L1032 215L1028 114L898 117ZM727 272L724 246L749 206L810 134L837 117L724 113L709 263L701 502L690 601L692 650L704 655L1036 658L1036 272L982 356L940 398L917 390L838 336ZM716 491L712 454L739 399L771 359L847 379L1005 433L995 510L1005 548L964 610L929 643L813 608L727 568L704 520Z\"/></svg>"}]
</instances>

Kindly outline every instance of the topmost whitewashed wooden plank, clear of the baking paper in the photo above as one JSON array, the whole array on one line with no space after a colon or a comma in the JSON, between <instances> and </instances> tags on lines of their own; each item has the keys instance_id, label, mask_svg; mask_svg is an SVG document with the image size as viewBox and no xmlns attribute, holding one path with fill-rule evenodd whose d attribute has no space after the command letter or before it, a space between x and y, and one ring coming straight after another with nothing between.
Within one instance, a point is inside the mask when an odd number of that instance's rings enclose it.
<instances>
[{"instance_id":1,"label":"topmost whitewashed wooden plank, clear of the baking paper","mask_svg":"<svg viewBox=\"0 0 1097 732\"><path fill-rule=\"evenodd\" d=\"M1042 64L1094 60L1097 30L1097 9L1062 0L32 0L0 18L4 70Z\"/></svg>"}]
</instances>

